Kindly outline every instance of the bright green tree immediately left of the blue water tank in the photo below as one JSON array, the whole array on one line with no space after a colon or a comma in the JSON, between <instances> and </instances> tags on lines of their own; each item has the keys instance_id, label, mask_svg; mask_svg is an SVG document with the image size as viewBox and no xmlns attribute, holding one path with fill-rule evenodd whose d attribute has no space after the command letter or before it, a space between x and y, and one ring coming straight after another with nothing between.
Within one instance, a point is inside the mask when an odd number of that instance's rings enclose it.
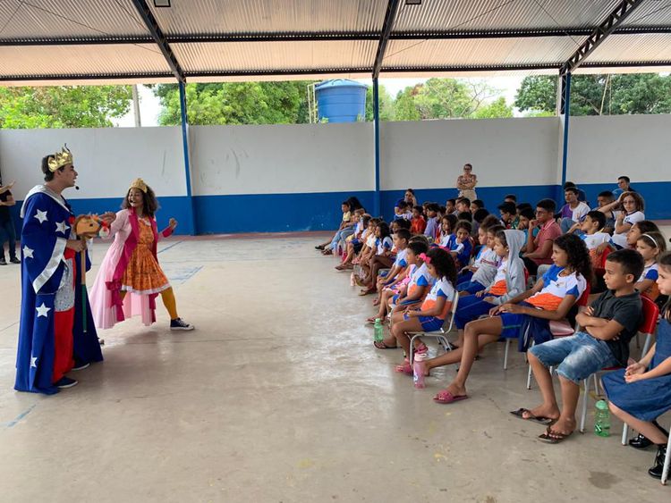
<instances>
[{"instance_id":1,"label":"bright green tree immediately left of the blue water tank","mask_svg":"<svg viewBox=\"0 0 671 503\"><path fill-rule=\"evenodd\" d=\"M224 82L187 84L189 122L214 124L296 124L309 122L310 81ZM181 121L179 90L176 84L152 87L163 110L158 122L164 126Z\"/></svg>"}]
</instances>

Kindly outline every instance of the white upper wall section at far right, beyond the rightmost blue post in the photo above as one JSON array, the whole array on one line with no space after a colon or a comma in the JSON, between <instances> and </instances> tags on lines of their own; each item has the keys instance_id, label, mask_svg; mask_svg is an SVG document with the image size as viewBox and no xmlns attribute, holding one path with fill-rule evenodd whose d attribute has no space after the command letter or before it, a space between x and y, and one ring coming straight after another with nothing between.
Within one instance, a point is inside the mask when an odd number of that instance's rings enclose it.
<instances>
[{"instance_id":1,"label":"white upper wall section at far right, beyond the rightmost blue post","mask_svg":"<svg viewBox=\"0 0 671 503\"><path fill-rule=\"evenodd\" d=\"M566 180L606 183L671 180L671 115L571 117Z\"/></svg>"}]
</instances>

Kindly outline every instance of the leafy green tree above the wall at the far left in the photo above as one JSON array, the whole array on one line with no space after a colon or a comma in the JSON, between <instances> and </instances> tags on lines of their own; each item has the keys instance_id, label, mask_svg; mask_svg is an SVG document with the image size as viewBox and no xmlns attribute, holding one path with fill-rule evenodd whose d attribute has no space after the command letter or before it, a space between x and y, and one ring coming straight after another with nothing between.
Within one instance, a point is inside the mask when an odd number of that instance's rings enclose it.
<instances>
[{"instance_id":1,"label":"leafy green tree above the wall at the far left","mask_svg":"<svg viewBox=\"0 0 671 503\"><path fill-rule=\"evenodd\" d=\"M130 86L0 88L0 128L105 128L131 108Z\"/></svg>"}]
</instances>

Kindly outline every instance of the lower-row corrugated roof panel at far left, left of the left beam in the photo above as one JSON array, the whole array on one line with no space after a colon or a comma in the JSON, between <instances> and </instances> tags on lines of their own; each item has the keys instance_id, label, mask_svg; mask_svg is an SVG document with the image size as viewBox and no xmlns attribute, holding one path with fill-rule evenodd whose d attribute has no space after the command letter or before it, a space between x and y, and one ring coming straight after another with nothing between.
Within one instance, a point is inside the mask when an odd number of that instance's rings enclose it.
<instances>
[{"instance_id":1,"label":"lower-row corrugated roof panel at far left, left of the left beam","mask_svg":"<svg viewBox=\"0 0 671 503\"><path fill-rule=\"evenodd\" d=\"M170 72L157 46L0 46L0 75Z\"/></svg>"}]
</instances>

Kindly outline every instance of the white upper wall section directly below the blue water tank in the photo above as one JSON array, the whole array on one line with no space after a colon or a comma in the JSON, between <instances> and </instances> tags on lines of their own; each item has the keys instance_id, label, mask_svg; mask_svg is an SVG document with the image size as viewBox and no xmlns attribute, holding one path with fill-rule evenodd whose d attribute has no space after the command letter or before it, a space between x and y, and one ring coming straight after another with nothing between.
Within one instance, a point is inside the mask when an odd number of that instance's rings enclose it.
<instances>
[{"instance_id":1,"label":"white upper wall section directly below the blue water tank","mask_svg":"<svg viewBox=\"0 0 671 503\"><path fill-rule=\"evenodd\" d=\"M190 128L193 193L373 190L373 129L365 122Z\"/></svg>"}]
</instances>

